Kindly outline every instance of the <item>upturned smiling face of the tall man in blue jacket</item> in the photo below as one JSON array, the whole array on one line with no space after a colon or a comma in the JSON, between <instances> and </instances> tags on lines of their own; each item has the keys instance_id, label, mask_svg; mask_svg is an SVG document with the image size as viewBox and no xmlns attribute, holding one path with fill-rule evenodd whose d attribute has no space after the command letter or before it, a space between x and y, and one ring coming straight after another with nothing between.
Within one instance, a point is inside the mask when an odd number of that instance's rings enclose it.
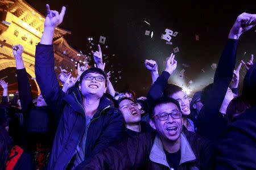
<instances>
[{"instance_id":1,"label":"upturned smiling face of the tall man in blue jacket","mask_svg":"<svg viewBox=\"0 0 256 170\"><path fill-rule=\"evenodd\" d=\"M82 96L96 95L101 98L106 91L105 78L99 73L88 73L81 83Z\"/></svg>"}]
</instances>

